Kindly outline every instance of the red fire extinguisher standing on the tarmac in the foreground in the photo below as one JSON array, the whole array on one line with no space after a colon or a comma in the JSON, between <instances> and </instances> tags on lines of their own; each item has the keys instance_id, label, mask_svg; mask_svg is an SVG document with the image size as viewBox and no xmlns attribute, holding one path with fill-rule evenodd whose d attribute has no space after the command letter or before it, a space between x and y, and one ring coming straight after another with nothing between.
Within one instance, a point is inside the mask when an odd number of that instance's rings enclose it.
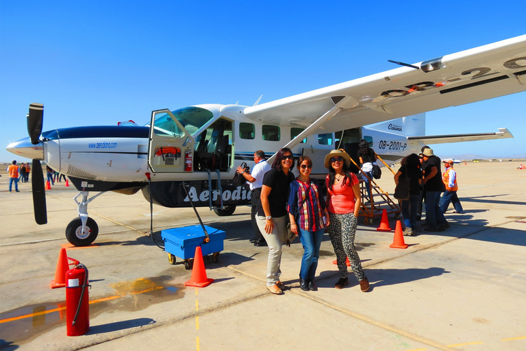
<instances>
[{"instance_id":1,"label":"red fire extinguisher standing on the tarmac in the foreground","mask_svg":"<svg viewBox=\"0 0 526 351\"><path fill-rule=\"evenodd\" d=\"M66 326L68 337L90 330L88 268L82 263L66 271Z\"/></svg>"}]
</instances>

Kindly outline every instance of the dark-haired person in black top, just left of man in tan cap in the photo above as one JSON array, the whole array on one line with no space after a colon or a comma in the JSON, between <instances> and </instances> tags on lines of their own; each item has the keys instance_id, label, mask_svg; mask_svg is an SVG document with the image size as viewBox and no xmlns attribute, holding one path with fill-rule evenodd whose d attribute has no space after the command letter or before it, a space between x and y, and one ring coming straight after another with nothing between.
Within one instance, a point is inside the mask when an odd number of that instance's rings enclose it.
<instances>
[{"instance_id":1,"label":"dark-haired person in black top, just left of man in tan cap","mask_svg":"<svg viewBox=\"0 0 526 351\"><path fill-rule=\"evenodd\" d=\"M401 167L395 174L395 184L398 185L400 177L410 178L410 197L402 200L402 216L405 224L404 235L416 235L416 209L418 202L422 202L420 195L420 183L422 182L422 170L420 169L420 159L417 154L405 156L401 161Z\"/></svg>"}]
</instances>

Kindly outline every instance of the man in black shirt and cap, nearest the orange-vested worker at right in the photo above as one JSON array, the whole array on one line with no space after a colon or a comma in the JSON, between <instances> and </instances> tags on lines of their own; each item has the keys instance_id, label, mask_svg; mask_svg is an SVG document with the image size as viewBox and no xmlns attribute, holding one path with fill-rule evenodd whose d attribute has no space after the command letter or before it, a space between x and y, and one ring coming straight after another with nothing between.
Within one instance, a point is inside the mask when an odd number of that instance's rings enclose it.
<instances>
[{"instance_id":1,"label":"man in black shirt and cap, nearest the orange-vested worker at right","mask_svg":"<svg viewBox=\"0 0 526 351\"><path fill-rule=\"evenodd\" d=\"M438 206L442 192L442 177L440 158L433 154L433 149L424 149L424 189L425 189L425 221L426 232L439 232L449 228L444 213Z\"/></svg>"}]
</instances>

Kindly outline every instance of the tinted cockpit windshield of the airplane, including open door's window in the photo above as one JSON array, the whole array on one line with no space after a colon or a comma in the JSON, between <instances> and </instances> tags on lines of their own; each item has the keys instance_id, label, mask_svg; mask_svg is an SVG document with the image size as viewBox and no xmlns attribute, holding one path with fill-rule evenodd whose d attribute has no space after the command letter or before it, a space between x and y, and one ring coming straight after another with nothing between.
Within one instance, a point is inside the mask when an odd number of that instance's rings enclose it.
<instances>
[{"instance_id":1,"label":"tinted cockpit windshield of the airplane, including open door's window","mask_svg":"<svg viewBox=\"0 0 526 351\"><path fill-rule=\"evenodd\" d=\"M214 118L214 114L211 111L193 106L173 110L172 114L190 134L194 134L199 128L208 123L210 119ZM149 124L150 123L148 123L147 126L149 126ZM167 113L159 114L155 117L154 131L157 135L175 137L184 135L184 132L180 130L172 120L172 117Z\"/></svg>"}]
</instances>

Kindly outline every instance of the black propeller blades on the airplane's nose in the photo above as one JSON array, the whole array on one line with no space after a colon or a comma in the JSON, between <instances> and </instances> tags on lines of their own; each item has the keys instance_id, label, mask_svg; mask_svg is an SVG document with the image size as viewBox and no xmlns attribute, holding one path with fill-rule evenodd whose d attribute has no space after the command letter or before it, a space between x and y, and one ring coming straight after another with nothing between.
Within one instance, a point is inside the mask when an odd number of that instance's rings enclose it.
<instances>
[{"instance_id":1,"label":"black propeller blades on the airplane's nose","mask_svg":"<svg viewBox=\"0 0 526 351\"><path fill-rule=\"evenodd\" d=\"M44 121L44 105L29 104L29 114L27 114L27 132L31 143L36 145L40 143L40 133L42 133L42 122ZM33 159L31 169L31 185L33 189L33 208L35 212L35 221L38 224L47 223L46 193L44 188L44 173L40 160Z\"/></svg>"}]
</instances>

